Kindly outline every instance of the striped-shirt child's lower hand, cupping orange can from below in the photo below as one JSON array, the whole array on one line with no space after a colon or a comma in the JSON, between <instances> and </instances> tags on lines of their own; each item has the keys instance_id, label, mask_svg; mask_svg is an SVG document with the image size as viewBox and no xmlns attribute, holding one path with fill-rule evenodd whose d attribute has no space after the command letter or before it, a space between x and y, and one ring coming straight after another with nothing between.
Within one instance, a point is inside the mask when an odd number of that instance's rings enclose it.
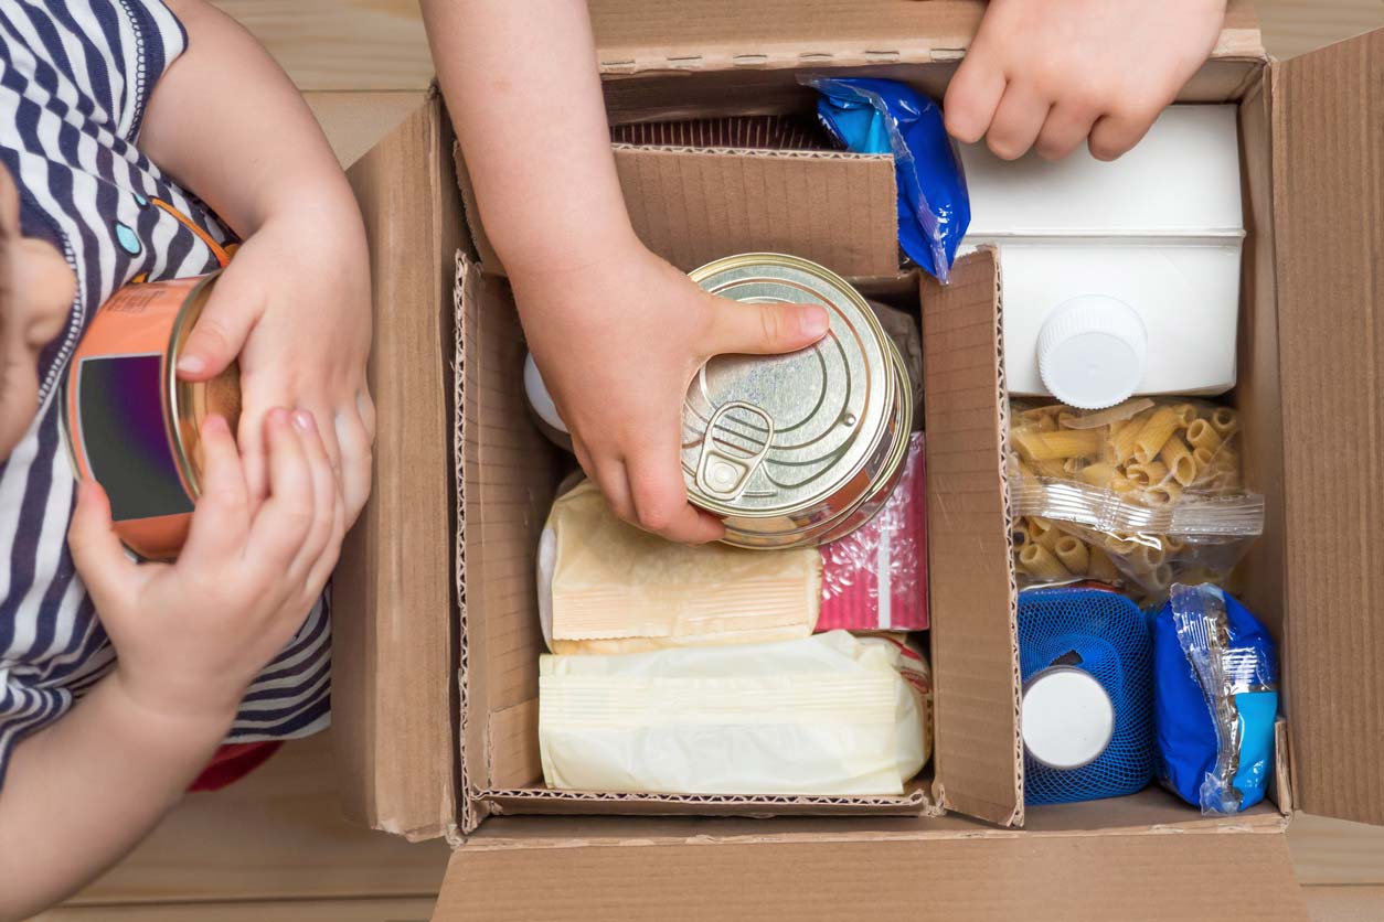
<instances>
[{"instance_id":1,"label":"striped-shirt child's lower hand, cupping orange can from below","mask_svg":"<svg viewBox=\"0 0 1384 922\"><path fill-rule=\"evenodd\" d=\"M173 564L131 561L104 491L80 485L68 545L119 657L120 687L152 713L228 726L336 561L345 505L313 415L274 409L263 426L268 499L252 510L226 420L203 424L202 496Z\"/></svg>"}]
</instances>

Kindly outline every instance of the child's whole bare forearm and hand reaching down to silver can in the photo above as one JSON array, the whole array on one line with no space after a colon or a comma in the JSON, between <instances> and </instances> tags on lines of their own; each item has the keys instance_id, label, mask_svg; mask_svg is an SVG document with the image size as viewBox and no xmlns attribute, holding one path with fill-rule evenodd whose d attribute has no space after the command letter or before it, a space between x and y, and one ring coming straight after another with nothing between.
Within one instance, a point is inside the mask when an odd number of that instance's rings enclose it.
<instances>
[{"instance_id":1,"label":"child's whole bare forearm and hand reaching down to silver can","mask_svg":"<svg viewBox=\"0 0 1384 922\"><path fill-rule=\"evenodd\" d=\"M718 538L682 484L688 383L718 352L815 341L825 314L710 297L639 243L583 0L422 6L486 232L577 459L621 518L680 540Z\"/></svg>"}]
</instances>

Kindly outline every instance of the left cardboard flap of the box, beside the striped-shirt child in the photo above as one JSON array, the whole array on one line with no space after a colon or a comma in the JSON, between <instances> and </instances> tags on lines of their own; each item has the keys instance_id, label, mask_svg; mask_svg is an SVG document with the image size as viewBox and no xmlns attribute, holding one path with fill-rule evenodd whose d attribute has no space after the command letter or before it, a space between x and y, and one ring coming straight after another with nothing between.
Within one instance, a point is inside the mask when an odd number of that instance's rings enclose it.
<instances>
[{"instance_id":1,"label":"left cardboard flap of the box, beside the striped-shirt child","mask_svg":"<svg viewBox=\"0 0 1384 922\"><path fill-rule=\"evenodd\" d=\"M370 238L372 496L332 593L332 727L347 816L406 835L455 817L447 361L461 206L430 98L350 170Z\"/></svg>"}]
</instances>

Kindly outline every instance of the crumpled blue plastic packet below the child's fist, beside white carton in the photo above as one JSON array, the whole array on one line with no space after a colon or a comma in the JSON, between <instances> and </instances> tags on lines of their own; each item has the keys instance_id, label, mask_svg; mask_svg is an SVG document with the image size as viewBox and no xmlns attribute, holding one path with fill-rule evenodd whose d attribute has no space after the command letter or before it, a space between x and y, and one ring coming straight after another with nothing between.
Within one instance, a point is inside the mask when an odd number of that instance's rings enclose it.
<instances>
[{"instance_id":1,"label":"crumpled blue plastic packet below the child's fist, beside white carton","mask_svg":"<svg viewBox=\"0 0 1384 922\"><path fill-rule=\"evenodd\" d=\"M912 87L869 77L807 77L817 116L855 153L893 153L898 184L898 243L947 282L970 227L970 198L943 111Z\"/></svg>"}]
</instances>

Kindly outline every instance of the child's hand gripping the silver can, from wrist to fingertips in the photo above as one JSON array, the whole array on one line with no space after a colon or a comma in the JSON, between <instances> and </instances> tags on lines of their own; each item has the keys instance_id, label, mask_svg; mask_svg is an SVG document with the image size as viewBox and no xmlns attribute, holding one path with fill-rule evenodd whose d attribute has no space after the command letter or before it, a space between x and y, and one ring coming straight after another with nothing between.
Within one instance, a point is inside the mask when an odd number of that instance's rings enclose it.
<instances>
[{"instance_id":1,"label":"child's hand gripping the silver can, from wrist to fingertips","mask_svg":"<svg viewBox=\"0 0 1384 922\"><path fill-rule=\"evenodd\" d=\"M620 518L673 540L724 532L682 482L682 398L722 352L790 352L826 312L713 297L637 241L595 265L511 274L525 333L577 460Z\"/></svg>"}]
</instances>

